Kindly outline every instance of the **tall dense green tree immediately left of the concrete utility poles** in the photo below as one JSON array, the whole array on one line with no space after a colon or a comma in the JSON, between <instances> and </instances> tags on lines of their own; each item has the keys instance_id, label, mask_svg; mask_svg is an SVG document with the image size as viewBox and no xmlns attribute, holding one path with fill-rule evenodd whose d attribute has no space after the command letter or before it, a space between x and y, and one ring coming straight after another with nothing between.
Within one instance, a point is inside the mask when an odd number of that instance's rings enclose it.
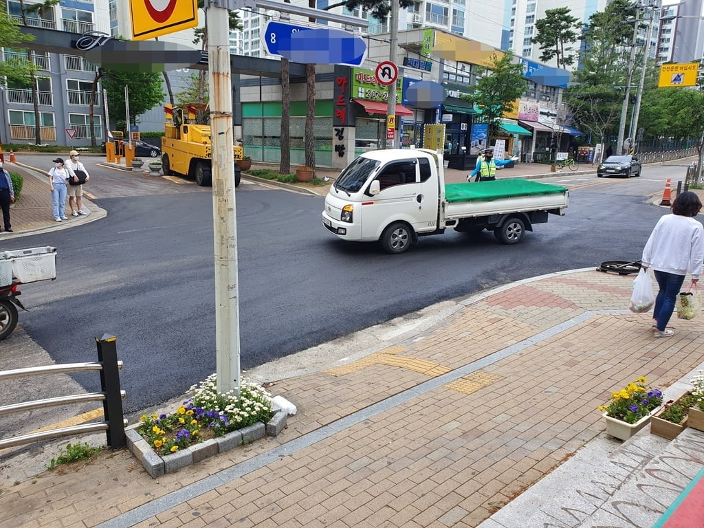
<instances>
[{"instance_id":1,"label":"tall dense green tree immediately left of the concrete utility poles","mask_svg":"<svg viewBox=\"0 0 704 528\"><path fill-rule=\"evenodd\" d=\"M629 64L634 29L627 20L634 15L627 0L614 0L605 11L591 15L579 54L582 67L562 98L580 130L591 132L595 141L615 132L619 122L624 96L615 87L626 83L624 65Z\"/></svg>"}]
</instances>

